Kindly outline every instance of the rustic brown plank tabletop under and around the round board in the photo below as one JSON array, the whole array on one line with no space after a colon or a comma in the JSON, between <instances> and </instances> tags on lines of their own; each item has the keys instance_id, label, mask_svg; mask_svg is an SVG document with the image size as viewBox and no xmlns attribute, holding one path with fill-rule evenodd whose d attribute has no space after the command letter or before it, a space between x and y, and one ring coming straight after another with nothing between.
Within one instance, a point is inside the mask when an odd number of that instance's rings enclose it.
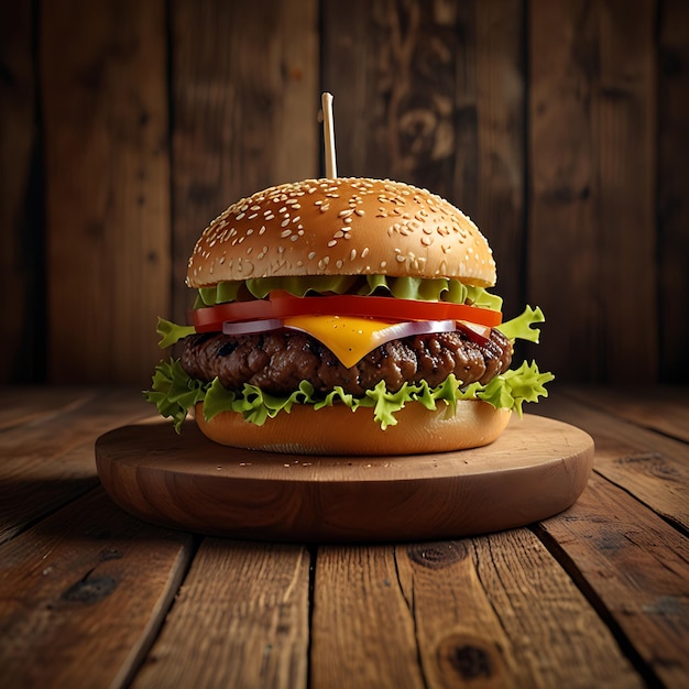
<instances>
[{"instance_id":1,"label":"rustic brown plank tabletop under and around the round board","mask_svg":"<svg viewBox=\"0 0 689 689\"><path fill-rule=\"evenodd\" d=\"M94 442L133 390L0 391L0 686L689 687L689 391L554 387L595 440L565 513L455 540L278 544L139 521Z\"/></svg>"}]
</instances>

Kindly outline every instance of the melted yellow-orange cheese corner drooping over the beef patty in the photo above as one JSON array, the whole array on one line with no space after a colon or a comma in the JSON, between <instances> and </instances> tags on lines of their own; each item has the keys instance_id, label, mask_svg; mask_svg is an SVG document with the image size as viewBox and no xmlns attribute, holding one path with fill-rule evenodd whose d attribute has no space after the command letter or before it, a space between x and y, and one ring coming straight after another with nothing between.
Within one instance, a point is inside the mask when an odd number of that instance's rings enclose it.
<instances>
[{"instance_id":1,"label":"melted yellow-orange cheese corner drooping over the beef patty","mask_svg":"<svg viewBox=\"0 0 689 689\"><path fill-rule=\"evenodd\" d=\"M285 318L284 325L308 332L348 369L379 344L398 337L398 324L356 316L294 316Z\"/></svg>"}]
</instances>

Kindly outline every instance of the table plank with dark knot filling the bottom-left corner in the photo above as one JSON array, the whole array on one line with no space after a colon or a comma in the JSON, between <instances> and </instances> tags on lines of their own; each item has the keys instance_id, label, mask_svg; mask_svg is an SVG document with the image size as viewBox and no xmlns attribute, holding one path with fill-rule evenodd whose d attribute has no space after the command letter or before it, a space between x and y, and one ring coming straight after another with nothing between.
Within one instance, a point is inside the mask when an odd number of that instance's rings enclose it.
<instances>
[{"instance_id":1,"label":"table plank with dark knot filling the bottom-left corner","mask_svg":"<svg viewBox=\"0 0 689 689\"><path fill-rule=\"evenodd\" d=\"M7 687L122 687L163 623L192 556L101 490L0 547Z\"/></svg>"}]
</instances>

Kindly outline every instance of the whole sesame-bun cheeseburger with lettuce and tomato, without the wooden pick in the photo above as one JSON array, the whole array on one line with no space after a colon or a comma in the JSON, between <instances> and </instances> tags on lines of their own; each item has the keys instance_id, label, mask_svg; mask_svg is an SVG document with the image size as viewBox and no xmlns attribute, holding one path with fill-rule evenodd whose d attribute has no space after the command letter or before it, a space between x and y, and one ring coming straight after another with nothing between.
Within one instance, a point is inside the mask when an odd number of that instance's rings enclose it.
<instances>
[{"instance_id":1,"label":"whole sesame-bun cheeseburger with lettuce and tomato, without the wooden pick","mask_svg":"<svg viewBox=\"0 0 689 689\"><path fill-rule=\"evenodd\" d=\"M177 431L189 412L223 445L305 455L402 455L493 441L547 395L539 308L502 317L477 226L393 181L320 178L238 200L188 262L189 325L158 319L145 397Z\"/></svg>"}]
</instances>

